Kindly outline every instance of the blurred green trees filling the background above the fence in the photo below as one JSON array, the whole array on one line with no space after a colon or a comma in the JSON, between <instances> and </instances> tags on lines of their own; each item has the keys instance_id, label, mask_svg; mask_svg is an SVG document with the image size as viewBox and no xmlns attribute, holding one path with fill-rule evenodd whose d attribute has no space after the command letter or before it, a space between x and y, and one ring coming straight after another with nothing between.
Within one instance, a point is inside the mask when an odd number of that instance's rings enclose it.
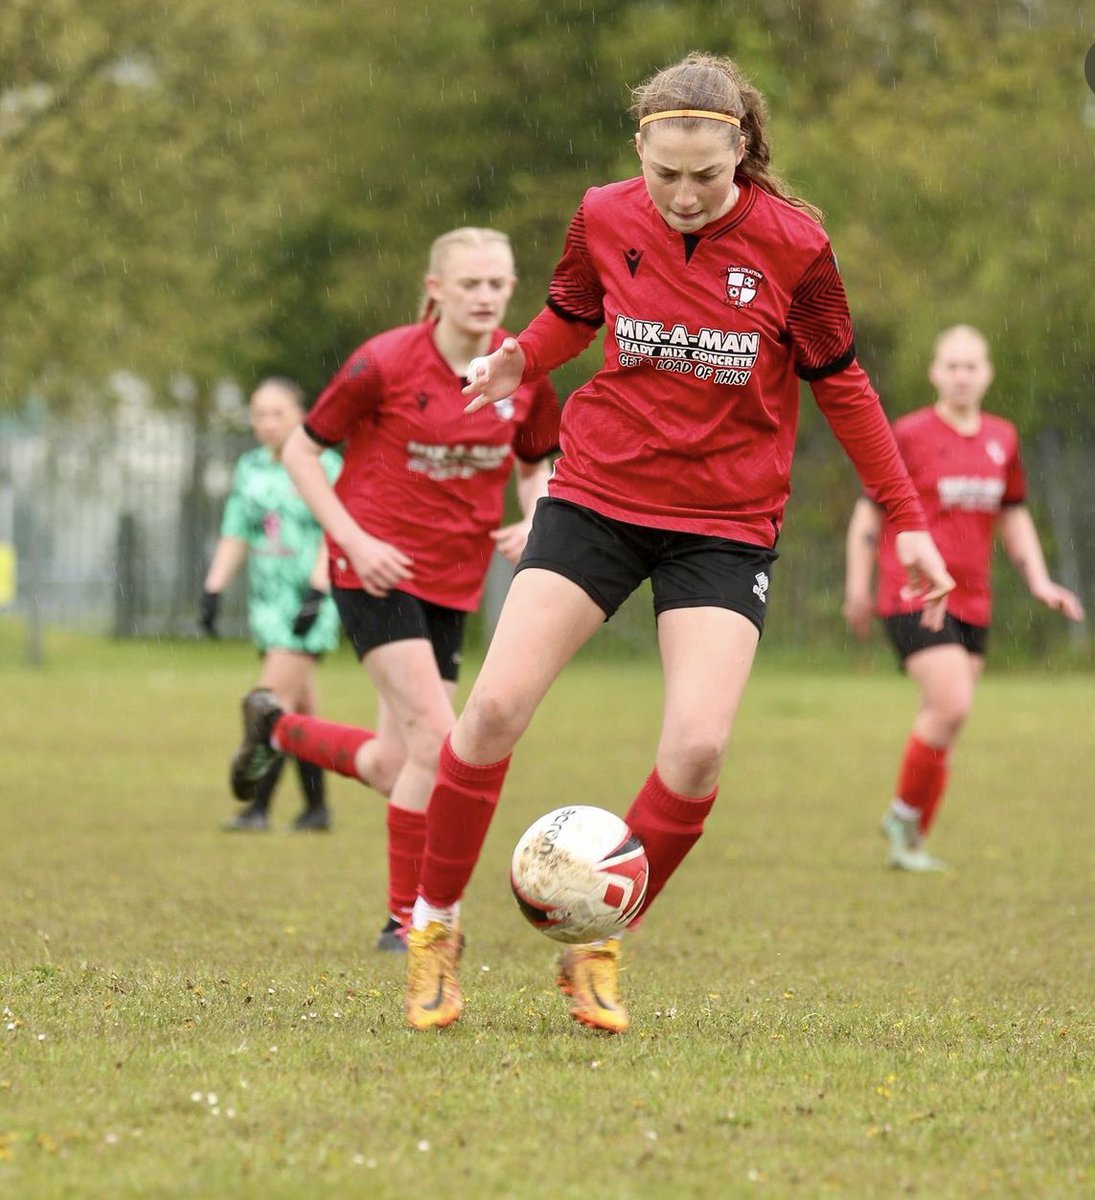
<instances>
[{"instance_id":1,"label":"blurred green trees filling the background above the fence","mask_svg":"<svg viewBox=\"0 0 1095 1200\"><path fill-rule=\"evenodd\" d=\"M891 412L967 320L1024 436L1090 440L1090 36L1069 0L7 0L0 409L104 403L120 368L191 396L197 431L217 378L315 391L413 318L463 223L513 236L520 326L584 190L636 170L629 88L699 48L767 95ZM795 482L795 604L828 620L856 485L810 403Z\"/></svg>"}]
</instances>

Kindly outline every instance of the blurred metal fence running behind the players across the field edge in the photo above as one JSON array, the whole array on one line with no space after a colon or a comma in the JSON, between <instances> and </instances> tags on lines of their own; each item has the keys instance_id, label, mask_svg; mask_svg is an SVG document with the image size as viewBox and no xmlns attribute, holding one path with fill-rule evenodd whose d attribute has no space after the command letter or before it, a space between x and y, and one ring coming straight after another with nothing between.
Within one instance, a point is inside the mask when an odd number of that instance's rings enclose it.
<instances>
[{"instance_id":1,"label":"blurred metal fence running behind the players across the field edge","mask_svg":"<svg viewBox=\"0 0 1095 1200\"><path fill-rule=\"evenodd\" d=\"M0 613L24 617L31 640L43 626L119 637L196 636L202 581L232 469L251 445L239 409L215 414L201 432L186 406L164 412L121 404L109 416L86 420L0 422ZM1052 431L1029 449L1033 504L1051 569L1090 611L1093 452ZM833 454L827 438L803 438L800 445L802 486L780 540L784 586L770 614L771 637L782 642L842 636L843 532L855 480L842 475L833 488ZM818 511L808 514L807 505ZM1087 629L1066 635L1059 618L1033 605L1015 571L1001 565L997 574L997 644L1035 655L1066 636L1076 647L1089 644ZM483 616L469 626L472 638L492 628L509 576L507 564L493 564ZM226 595L222 630L246 636L241 583ZM626 653L652 646L646 590L598 643Z\"/></svg>"}]
</instances>

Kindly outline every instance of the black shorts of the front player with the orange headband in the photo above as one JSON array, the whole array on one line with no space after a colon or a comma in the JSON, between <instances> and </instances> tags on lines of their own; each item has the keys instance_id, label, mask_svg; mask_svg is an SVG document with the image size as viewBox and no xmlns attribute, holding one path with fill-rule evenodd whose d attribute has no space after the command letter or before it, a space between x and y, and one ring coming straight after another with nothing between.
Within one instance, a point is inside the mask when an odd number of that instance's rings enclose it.
<instances>
[{"instance_id":1,"label":"black shorts of the front player with the orange headband","mask_svg":"<svg viewBox=\"0 0 1095 1200\"><path fill-rule=\"evenodd\" d=\"M568 500L537 502L517 570L539 566L576 583L605 619L648 578L654 613L730 608L764 632L774 550L726 538L651 529Z\"/></svg>"}]
</instances>

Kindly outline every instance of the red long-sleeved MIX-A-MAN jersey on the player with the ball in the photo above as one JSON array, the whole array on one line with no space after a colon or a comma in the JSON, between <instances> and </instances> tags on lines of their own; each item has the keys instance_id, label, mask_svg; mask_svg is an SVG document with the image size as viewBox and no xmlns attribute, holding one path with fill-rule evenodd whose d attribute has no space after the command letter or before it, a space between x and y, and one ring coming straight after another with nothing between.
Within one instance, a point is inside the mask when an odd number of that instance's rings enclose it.
<instances>
[{"instance_id":1,"label":"red long-sleeved MIX-A-MAN jersey on the player with the ball","mask_svg":"<svg viewBox=\"0 0 1095 1200\"><path fill-rule=\"evenodd\" d=\"M894 527L925 528L855 361L825 232L762 188L740 188L700 234L670 229L642 179L586 192L548 307L520 337L531 379L605 325L604 365L563 409L551 494L635 524L772 546L802 378Z\"/></svg>"}]
</instances>

